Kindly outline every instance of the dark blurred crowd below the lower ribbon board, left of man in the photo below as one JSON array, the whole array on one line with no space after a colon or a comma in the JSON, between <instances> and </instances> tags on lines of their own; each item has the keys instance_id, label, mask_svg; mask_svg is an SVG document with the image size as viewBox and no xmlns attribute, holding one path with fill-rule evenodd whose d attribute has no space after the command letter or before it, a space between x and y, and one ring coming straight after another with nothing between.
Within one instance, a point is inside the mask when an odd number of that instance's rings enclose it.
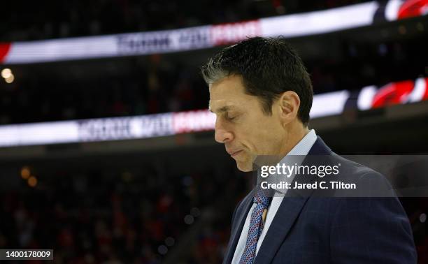
<instances>
[{"instance_id":1,"label":"dark blurred crowd below the lower ribbon board, left of man","mask_svg":"<svg viewBox=\"0 0 428 264\"><path fill-rule=\"evenodd\" d=\"M215 200L239 194L230 189L243 177L229 176L148 167L41 173L34 187L22 180L0 191L0 248L54 249L55 263L163 263L201 214L219 206ZM233 205L217 208L217 222L229 223ZM205 225L190 244L184 241L194 249L183 263L220 263L228 228Z\"/></svg>"}]
</instances>

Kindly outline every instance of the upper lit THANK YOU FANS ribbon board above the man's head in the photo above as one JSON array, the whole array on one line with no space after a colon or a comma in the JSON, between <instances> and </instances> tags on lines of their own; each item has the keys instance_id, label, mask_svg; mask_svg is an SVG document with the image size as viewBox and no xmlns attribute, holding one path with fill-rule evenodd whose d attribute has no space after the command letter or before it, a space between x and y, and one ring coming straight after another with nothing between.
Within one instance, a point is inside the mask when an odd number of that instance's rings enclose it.
<instances>
[{"instance_id":1,"label":"upper lit THANK YOU FANS ribbon board above the man's head","mask_svg":"<svg viewBox=\"0 0 428 264\"><path fill-rule=\"evenodd\" d=\"M392 21L426 15L426 0L377 1L296 15L215 24L185 29L138 32L45 41L0 43L0 64L31 64L48 61L136 56L197 50L236 43L251 36L287 38L323 34L373 24L375 15Z\"/></svg>"}]
</instances>

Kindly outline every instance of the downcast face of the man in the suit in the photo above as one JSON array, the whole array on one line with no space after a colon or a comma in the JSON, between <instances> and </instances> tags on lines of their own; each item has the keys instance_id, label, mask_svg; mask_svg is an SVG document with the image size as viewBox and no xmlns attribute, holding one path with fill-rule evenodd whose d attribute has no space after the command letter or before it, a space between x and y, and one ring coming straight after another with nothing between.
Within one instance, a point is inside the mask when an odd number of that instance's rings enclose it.
<instances>
[{"instance_id":1,"label":"downcast face of the man in the suit","mask_svg":"<svg viewBox=\"0 0 428 264\"><path fill-rule=\"evenodd\" d=\"M257 96L245 94L240 75L210 85L210 110L217 116L215 140L224 143L239 170L252 170L257 155L285 155L286 134L278 102L266 115Z\"/></svg>"}]
</instances>

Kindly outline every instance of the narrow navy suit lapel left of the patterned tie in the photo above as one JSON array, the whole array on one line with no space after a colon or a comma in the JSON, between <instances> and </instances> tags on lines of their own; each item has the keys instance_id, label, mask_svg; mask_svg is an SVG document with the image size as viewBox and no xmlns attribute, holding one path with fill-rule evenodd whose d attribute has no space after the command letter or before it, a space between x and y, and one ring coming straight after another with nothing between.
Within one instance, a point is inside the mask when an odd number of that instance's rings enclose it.
<instances>
[{"instance_id":1,"label":"narrow navy suit lapel left of the patterned tie","mask_svg":"<svg viewBox=\"0 0 428 264\"><path fill-rule=\"evenodd\" d=\"M242 201L242 208L243 212L236 212L236 219L235 223L237 223L236 228L234 230L231 230L230 234L230 242L229 246L227 247L226 256L224 256L223 263L231 263L232 259L234 258L235 250L236 250L236 244L238 244L239 237L242 233L242 228L245 223L245 219L247 219L248 212L250 211L252 200L254 196L254 190L252 190L248 196L245 197L245 199ZM234 223L232 223L234 224Z\"/></svg>"}]
</instances>

